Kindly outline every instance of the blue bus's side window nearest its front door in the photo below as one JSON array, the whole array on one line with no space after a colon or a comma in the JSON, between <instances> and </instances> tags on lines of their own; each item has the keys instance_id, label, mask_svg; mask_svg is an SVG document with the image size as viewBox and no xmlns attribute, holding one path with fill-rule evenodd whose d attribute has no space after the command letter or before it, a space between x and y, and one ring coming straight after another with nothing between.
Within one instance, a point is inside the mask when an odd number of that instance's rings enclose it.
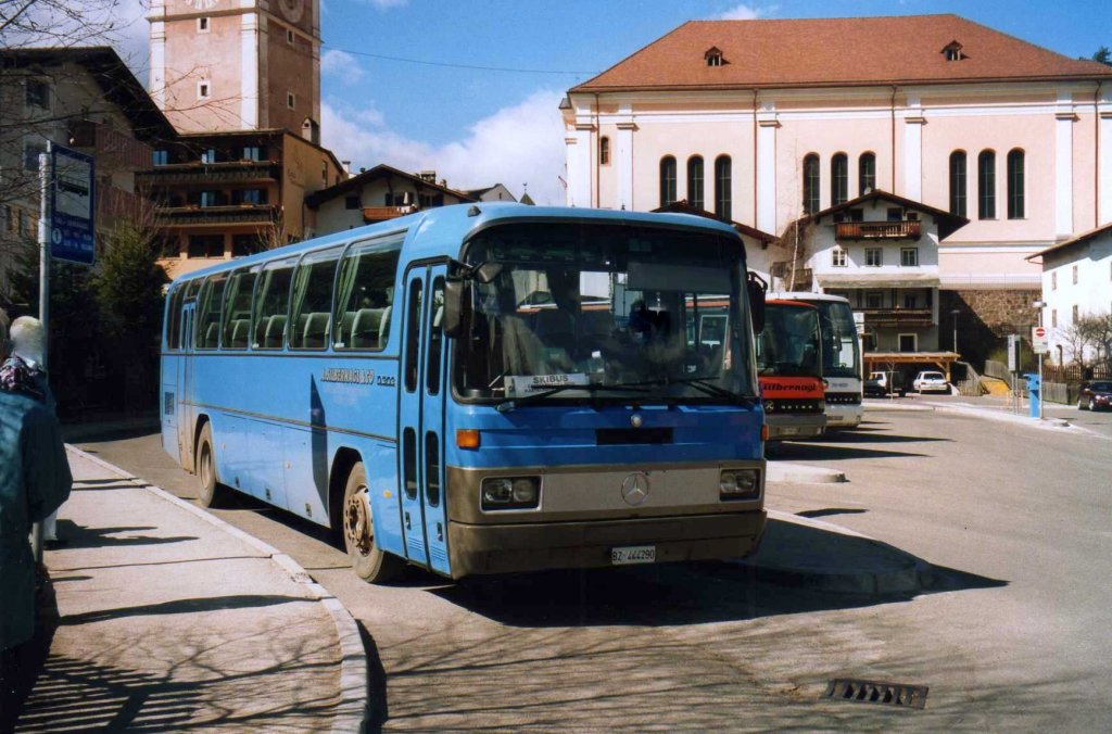
<instances>
[{"instance_id":1,"label":"blue bus's side window nearest its front door","mask_svg":"<svg viewBox=\"0 0 1112 734\"><path fill-rule=\"evenodd\" d=\"M381 351L386 347L400 247L398 237L355 245L344 256L332 316L335 348Z\"/></svg>"}]
</instances>

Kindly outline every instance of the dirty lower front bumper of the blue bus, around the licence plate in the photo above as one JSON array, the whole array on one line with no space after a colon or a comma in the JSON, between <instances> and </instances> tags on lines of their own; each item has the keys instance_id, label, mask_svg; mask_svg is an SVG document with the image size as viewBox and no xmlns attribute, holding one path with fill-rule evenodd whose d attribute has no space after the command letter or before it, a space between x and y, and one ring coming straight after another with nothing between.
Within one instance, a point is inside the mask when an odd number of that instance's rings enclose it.
<instances>
[{"instance_id":1,"label":"dirty lower front bumper of the blue bus, around the licence plate","mask_svg":"<svg viewBox=\"0 0 1112 734\"><path fill-rule=\"evenodd\" d=\"M451 576L610 566L617 547L653 546L656 563L747 556L761 543L765 512L582 523L448 523Z\"/></svg>"}]
</instances>

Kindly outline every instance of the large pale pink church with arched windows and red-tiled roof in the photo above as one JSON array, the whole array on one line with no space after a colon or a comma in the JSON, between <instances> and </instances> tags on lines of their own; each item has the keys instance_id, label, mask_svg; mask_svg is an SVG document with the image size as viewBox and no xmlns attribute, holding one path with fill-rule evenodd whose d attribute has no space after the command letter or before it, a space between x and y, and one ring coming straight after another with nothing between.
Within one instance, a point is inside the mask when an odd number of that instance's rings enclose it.
<instances>
[{"instance_id":1,"label":"large pale pink church with arched windows and red-tiled roof","mask_svg":"<svg viewBox=\"0 0 1112 734\"><path fill-rule=\"evenodd\" d=\"M573 206L784 234L884 190L967 218L940 288L995 334L1037 295L1029 256L1112 220L1112 68L956 16L688 22L562 108Z\"/></svg>"}]
</instances>

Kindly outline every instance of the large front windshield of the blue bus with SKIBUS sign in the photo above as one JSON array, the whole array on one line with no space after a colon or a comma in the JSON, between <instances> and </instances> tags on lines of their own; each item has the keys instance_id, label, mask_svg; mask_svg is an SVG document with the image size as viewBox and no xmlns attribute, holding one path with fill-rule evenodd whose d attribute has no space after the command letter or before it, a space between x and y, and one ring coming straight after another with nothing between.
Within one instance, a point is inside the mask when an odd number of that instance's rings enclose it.
<instances>
[{"instance_id":1,"label":"large front windshield of the blue bus with SKIBUS sign","mask_svg":"<svg viewBox=\"0 0 1112 734\"><path fill-rule=\"evenodd\" d=\"M723 403L756 393L735 239L516 224L480 232L466 262L497 275L471 281L455 361L465 399ZM714 338L685 327L701 309L722 315Z\"/></svg>"}]
</instances>

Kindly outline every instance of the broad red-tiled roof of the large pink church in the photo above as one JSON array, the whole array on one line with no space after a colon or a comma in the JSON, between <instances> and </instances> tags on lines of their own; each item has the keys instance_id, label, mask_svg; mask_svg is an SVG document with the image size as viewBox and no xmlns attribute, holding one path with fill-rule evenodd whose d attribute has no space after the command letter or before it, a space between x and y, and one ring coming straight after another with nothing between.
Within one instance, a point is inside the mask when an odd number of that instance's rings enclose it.
<instances>
[{"instance_id":1,"label":"broad red-tiled roof of the large pink church","mask_svg":"<svg viewBox=\"0 0 1112 734\"><path fill-rule=\"evenodd\" d=\"M965 57L946 61L952 41ZM707 49L724 63L708 67ZM1112 78L959 16L689 21L575 91Z\"/></svg>"}]
</instances>

